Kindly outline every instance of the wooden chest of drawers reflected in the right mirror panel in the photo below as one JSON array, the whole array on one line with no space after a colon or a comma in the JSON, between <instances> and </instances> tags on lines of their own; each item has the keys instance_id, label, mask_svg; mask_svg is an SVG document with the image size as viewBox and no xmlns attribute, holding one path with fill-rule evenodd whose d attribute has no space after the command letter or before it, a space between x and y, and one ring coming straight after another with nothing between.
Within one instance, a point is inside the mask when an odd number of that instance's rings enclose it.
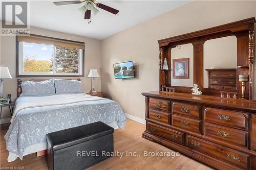
<instances>
[{"instance_id":1,"label":"wooden chest of drawers reflected in the right mirror panel","mask_svg":"<svg viewBox=\"0 0 256 170\"><path fill-rule=\"evenodd\" d=\"M208 75L208 88L216 89L236 89L237 69L219 68L206 69Z\"/></svg>"}]
</instances>

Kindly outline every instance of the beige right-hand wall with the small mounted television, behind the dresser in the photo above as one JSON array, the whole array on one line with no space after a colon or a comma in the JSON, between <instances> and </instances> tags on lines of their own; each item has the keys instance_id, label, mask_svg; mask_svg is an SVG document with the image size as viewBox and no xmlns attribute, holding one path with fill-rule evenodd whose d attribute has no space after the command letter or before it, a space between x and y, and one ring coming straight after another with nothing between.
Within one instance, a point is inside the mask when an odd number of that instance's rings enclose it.
<instances>
[{"instance_id":1,"label":"beige right-hand wall with the small mounted television, behind the dresser","mask_svg":"<svg viewBox=\"0 0 256 170\"><path fill-rule=\"evenodd\" d=\"M102 41L102 90L125 113L144 118L141 93L158 90L159 85L157 40L254 16L256 1L193 1L108 37ZM130 60L137 78L115 80L113 63Z\"/></svg>"}]
</instances>

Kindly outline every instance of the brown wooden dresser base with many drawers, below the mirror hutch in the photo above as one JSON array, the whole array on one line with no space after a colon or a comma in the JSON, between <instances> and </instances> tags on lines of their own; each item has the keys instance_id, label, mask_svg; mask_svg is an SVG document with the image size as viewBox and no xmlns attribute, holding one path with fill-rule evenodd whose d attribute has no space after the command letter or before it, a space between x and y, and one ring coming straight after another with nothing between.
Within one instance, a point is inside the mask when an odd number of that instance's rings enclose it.
<instances>
[{"instance_id":1,"label":"brown wooden dresser base with many drawers, below the mirror hutch","mask_svg":"<svg viewBox=\"0 0 256 170\"><path fill-rule=\"evenodd\" d=\"M256 169L256 103L163 91L142 95L142 137L217 169Z\"/></svg>"}]
</instances>

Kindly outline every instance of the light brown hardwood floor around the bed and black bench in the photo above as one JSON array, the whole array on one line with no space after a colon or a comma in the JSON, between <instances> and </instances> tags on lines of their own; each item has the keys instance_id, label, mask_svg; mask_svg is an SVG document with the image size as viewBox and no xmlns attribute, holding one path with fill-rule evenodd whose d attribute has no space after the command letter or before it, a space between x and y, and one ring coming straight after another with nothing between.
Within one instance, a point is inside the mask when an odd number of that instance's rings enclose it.
<instances>
[{"instance_id":1,"label":"light brown hardwood floor around the bed and black bench","mask_svg":"<svg viewBox=\"0 0 256 170\"><path fill-rule=\"evenodd\" d=\"M114 150L119 152L124 152L122 158L111 157L101 163L98 163L88 169L199 169L208 170L212 169L200 162L190 159L184 155L177 157L150 157L143 156L143 152L168 152L172 153L174 151L163 147L155 142L148 141L141 137L145 126L134 122L131 119L127 119L127 124L123 130L116 130L114 134ZM1 125L1 135L0 135L0 169L8 169L10 167L15 169L48 169L46 156L36 157L36 154L30 154L24 156L21 161L17 158L13 162L7 162L7 157L9 152L6 150L6 143L4 135L8 130L8 125ZM141 155L140 157L132 157L127 155L127 152L136 152L136 155ZM9 169L10 169L9 168Z\"/></svg>"}]
</instances>

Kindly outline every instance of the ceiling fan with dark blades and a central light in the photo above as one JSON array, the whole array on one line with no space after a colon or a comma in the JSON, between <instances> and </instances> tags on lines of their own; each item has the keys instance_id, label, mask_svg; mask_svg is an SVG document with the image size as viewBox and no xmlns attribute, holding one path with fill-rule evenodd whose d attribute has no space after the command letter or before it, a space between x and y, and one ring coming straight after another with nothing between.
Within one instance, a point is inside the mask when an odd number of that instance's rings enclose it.
<instances>
[{"instance_id":1,"label":"ceiling fan with dark blades and a central light","mask_svg":"<svg viewBox=\"0 0 256 170\"><path fill-rule=\"evenodd\" d=\"M95 3L96 0L82 0L82 1L59 1L59 2L53 2L53 4L59 6L59 5L70 5L70 4L82 4L84 5L79 8L78 10L84 15L84 19L89 19L89 22L91 22L91 12L93 12L94 15L96 15L99 10L96 8L101 8L105 11L111 12L113 14L117 14L119 11L111 8L109 6L106 6L101 3Z\"/></svg>"}]
</instances>

